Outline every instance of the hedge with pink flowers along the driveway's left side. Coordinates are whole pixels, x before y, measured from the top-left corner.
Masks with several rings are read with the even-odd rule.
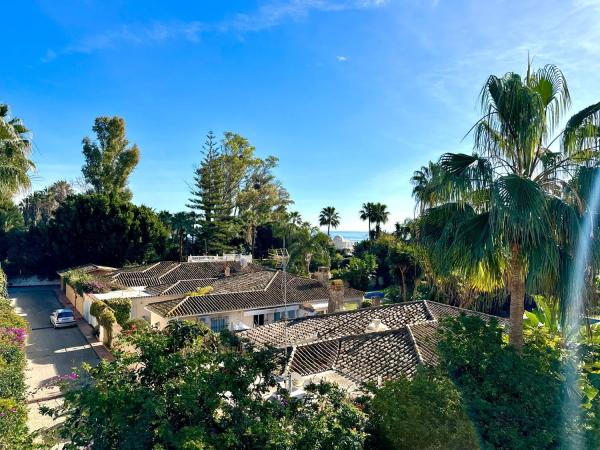
[[[0,270],[0,284],[5,280]],[[0,293],[3,286],[0,285]],[[0,296],[0,448],[29,448],[25,385],[27,322]]]

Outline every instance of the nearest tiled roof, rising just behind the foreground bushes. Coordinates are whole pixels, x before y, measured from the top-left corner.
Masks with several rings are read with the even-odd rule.
[[[483,313],[430,301],[398,303],[276,322],[239,332],[259,346],[290,349],[286,371],[302,376],[336,373],[357,385],[412,376],[419,364],[437,364],[439,320]],[[375,319],[385,331],[368,332]],[[507,327],[506,319],[496,318]],[[386,329],[387,328],[387,329]]]

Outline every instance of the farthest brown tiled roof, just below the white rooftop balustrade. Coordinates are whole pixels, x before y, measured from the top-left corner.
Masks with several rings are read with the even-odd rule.
[[[223,276],[226,266],[230,268],[232,275],[266,270],[264,267],[256,264],[247,264],[242,267],[239,261],[160,261],[153,264],[115,270],[107,274],[107,277],[127,287],[154,287],[159,285],[174,285],[182,280],[219,278]],[[200,287],[200,285],[197,287]],[[162,290],[165,289],[167,288],[164,287]]]

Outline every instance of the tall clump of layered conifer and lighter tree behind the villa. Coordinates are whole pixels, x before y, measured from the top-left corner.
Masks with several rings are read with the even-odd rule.
[[[200,219],[202,251],[223,253],[243,244],[253,252],[258,227],[278,219],[291,203],[272,173],[277,158],[258,158],[255,150],[239,134],[224,133],[218,145],[208,133],[188,205]]]

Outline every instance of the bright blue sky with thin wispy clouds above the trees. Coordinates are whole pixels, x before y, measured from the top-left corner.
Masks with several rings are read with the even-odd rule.
[[[412,172],[462,140],[487,76],[555,63],[600,100],[600,4],[463,0],[44,0],[3,5],[0,102],[33,130],[34,185],[81,177],[99,115],[126,119],[134,201],[184,208],[207,130],[280,158],[294,209],[413,214]],[[9,20],[6,20],[6,19]]]

